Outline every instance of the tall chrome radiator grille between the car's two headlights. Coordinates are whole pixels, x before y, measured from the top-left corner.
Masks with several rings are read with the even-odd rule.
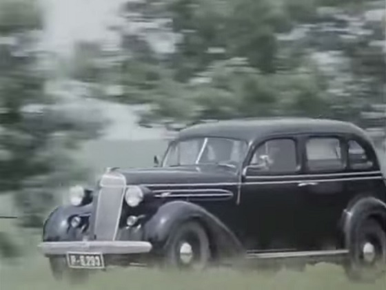
[[[102,176],[99,193],[94,197],[91,234],[95,240],[115,240],[125,186],[125,177],[119,172]]]

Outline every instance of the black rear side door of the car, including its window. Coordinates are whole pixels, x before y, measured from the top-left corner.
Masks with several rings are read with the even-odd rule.
[[[309,247],[336,245],[338,219],[349,200],[347,144],[338,134],[312,134],[302,138],[303,191],[301,227]]]

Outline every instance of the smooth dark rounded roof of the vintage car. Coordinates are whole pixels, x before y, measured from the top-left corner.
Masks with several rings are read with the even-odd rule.
[[[177,138],[199,136],[236,138],[247,142],[276,134],[354,134],[369,141],[365,131],[344,121],[326,118],[254,118],[201,123],[181,130]]]

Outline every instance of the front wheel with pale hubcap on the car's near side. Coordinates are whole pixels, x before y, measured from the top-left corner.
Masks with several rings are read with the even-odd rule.
[[[189,249],[191,256],[187,254]],[[200,271],[207,267],[210,256],[210,242],[203,227],[198,222],[185,222],[170,236],[163,265],[172,269]]]

